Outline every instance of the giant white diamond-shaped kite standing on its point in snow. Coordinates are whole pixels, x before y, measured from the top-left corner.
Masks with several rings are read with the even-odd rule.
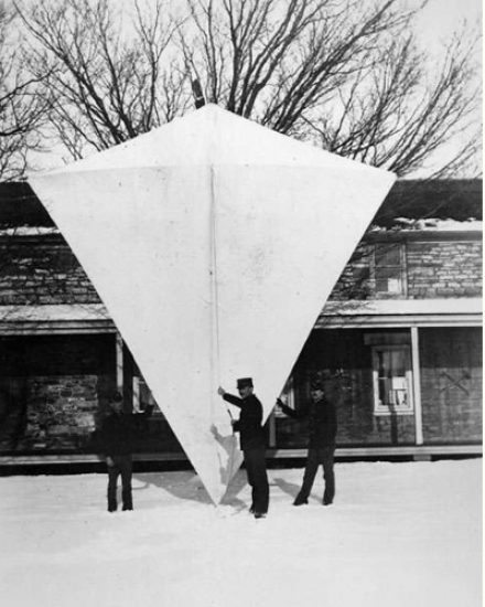
[[[218,503],[218,385],[252,377],[268,417],[395,175],[207,105],[29,181]]]

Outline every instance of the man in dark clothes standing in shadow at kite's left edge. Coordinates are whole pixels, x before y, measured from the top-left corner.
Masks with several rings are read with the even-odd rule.
[[[141,430],[141,424],[152,413],[153,406],[148,406],[142,414],[125,413],[123,400],[119,393],[110,398],[109,404],[111,413],[104,419],[99,432],[100,445],[108,466],[108,511],[115,512],[118,508],[116,493],[120,475],[122,509],[133,510],[131,454],[134,437]]]

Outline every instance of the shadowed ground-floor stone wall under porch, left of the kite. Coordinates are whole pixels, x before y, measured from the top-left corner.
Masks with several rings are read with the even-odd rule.
[[[0,451],[94,449],[115,385],[112,334],[0,339]]]

